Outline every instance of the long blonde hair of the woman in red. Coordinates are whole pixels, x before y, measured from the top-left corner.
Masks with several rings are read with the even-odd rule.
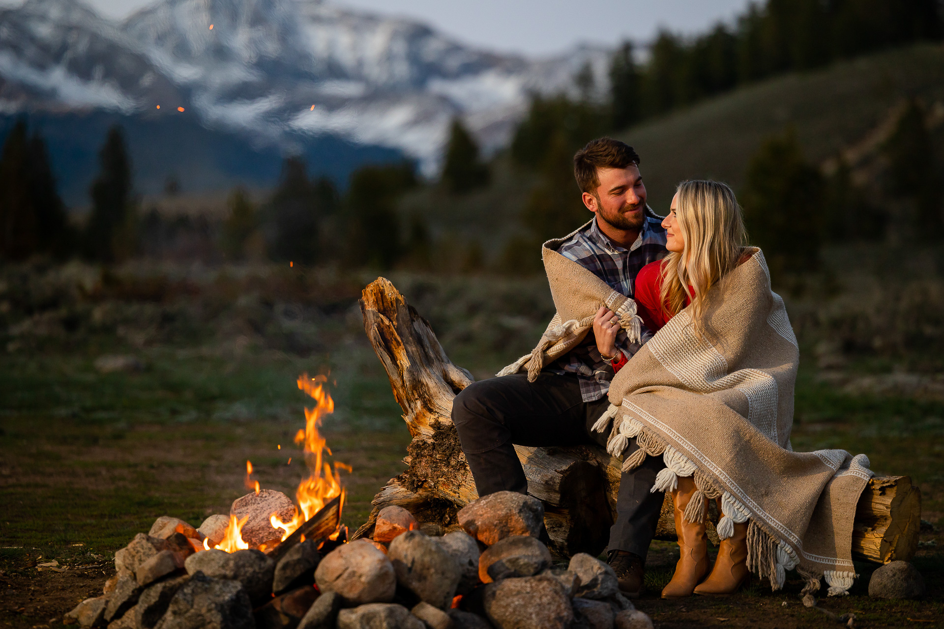
[[[684,250],[669,253],[662,261],[661,301],[666,314],[674,315],[689,298],[692,322],[698,331],[708,290],[737,266],[747,232],[741,207],[727,185],[719,181],[683,181],[676,192],[676,219]]]

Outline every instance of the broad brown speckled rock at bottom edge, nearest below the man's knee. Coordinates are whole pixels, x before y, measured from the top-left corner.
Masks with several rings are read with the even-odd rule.
[[[564,586],[554,578],[503,579],[484,590],[485,613],[498,629],[566,629],[574,620]]]

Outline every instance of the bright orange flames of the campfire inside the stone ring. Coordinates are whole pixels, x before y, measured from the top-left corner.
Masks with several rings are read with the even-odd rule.
[[[329,501],[337,496],[341,496],[341,507],[344,507],[345,489],[341,487],[340,470],[351,472],[351,467],[344,463],[334,461],[333,465],[324,460],[324,453],[331,455],[327,440],[318,432],[325,415],[334,412],[334,400],[331,399],[325,384],[328,382],[328,376],[317,375],[313,378],[308,373],[298,376],[298,389],[305,391],[316,402],[313,408],[305,407],[305,428],[298,429],[295,434],[295,444],[302,445],[304,448],[305,464],[309,469],[309,476],[299,483],[295,490],[295,500],[297,502],[297,512],[292,521],[283,522],[278,519],[275,513],[270,514],[269,522],[273,528],[283,531],[281,540],[292,535],[299,526],[308,521],[312,516],[327,505]],[[281,445],[278,446],[281,450]],[[289,463],[292,458],[289,458]],[[245,480],[246,488],[253,489],[257,494],[260,492],[259,481],[251,478],[253,472],[252,463],[245,462]],[[237,521],[232,516],[227,526],[226,537],[214,548],[227,553],[235,553],[238,550],[249,548],[244,542],[241,530],[248,517],[242,521]],[[342,527],[332,534],[329,539],[337,540],[342,532]],[[210,546],[204,541],[204,547],[209,550]]]

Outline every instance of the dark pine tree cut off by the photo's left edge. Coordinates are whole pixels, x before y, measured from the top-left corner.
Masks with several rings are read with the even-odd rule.
[[[37,249],[36,207],[30,194],[26,121],[13,125],[0,155],[0,257],[22,260]]]

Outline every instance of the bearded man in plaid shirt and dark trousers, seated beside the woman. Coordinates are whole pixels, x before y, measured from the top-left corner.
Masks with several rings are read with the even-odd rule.
[[[601,138],[577,152],[574,174],[583,205],[595,216],[556,250],[611,289],[632,297],[636,273],[667,253],[662,218],[646,205],[639,156],[621,141]],[[615,369],[651,336],[644,330],[641,341],[631,343],[614,319],[612,311],[600,306],[594,334],[587,334],[533,382],[526,374],[514,373],[475,382],[456,396],[452,420],[480,496],[502,490],[527,493],[514,444],[606,445],[607,435],[591,427],[609,406],[606,393]],[[632,439],[626,455],[637,447]],[[663,502],[662,493],[650,489],[664,467],[661,456],[648,456],[620,480],[607,551],[620,590],[630,596],[642,589],[649,542]]]

